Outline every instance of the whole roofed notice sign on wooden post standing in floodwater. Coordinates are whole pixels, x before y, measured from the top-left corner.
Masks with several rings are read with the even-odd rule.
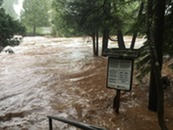
[[[132,88],[133,61],[138,57],[138,50],[112,48],[106,49],[103,55],[108,56],[106,86],[117,90],[113,109],[119,113],[121,90]]]

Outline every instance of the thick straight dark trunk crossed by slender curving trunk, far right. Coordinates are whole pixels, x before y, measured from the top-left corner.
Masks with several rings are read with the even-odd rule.
[[[162,57],[163,57],[163,52],[162,52],[162,48],[163,48],[163,28],[162,28],[162,26],[163,25],[162,24],[163,24],[164,17],[163,17],[163,19],[158,21],[158,17],[160,17],[158,15],[162,14],[160,12],[160,10],[162,10],[161,8],[160,9],[156,9],[155,10],[156,13],[154,15],[152,14],[152,12],[153,12],[152,11],[153,4],[154,3],[152,1],[150,2],[150,5],[148,4],[148,13],[149,13],[148,16],[150,17],[148,19],[150,19],[150,22],[151,22],[151,19],[154,18],[154,19],[152,19],[152,21],[155,21],[155,22],[153,22],[155,25],[153,25],[153,23],[150,23],[150,25],[148,25],[151,31],[154,28],[154,30],[153,30],[154,34],[149,34],[150,35],[149,37],[150,38],[151,37],[154,38],[154,39],[151,39],[151,41],[154,40],[154,44],[155,44],[154,46],[155,46],[155,49],[157,51],[157,57],[158,57],[158,62],[159,62],[159,66],[160,66],[160,71],[161,71],[161,69],[162,69],[162,62],[163,62],[162,61]],[[162,21],[162,23],[161,23],[161,21]],[[149,33],[153,33],[153,32],[149,32]],[[153,35],[153,36],[151,36],[151,35]],[[155,69],[155,68],[152,65],[151,66],[151,73],[150,73],[150,88],[149,88],[149,104],[148,104],[148,108],[149,108],[149,110],[157,111],[157,97],[158,97],[158,95],[157,95],[157,87],[156,87],[156,81],[155,81],[155,76],[156,75],[154,74],[153,69]]]

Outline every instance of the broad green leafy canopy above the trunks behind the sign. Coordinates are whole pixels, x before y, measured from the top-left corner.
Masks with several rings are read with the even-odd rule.
[[[112,33],[124,32],[135,22],[136,0],[54,0],[58,32],[81,32],[91,35],[94,30],[109,28]],[[71,31],[70,31],[71,30]],[[77,33],[78,34],[78,33]]]

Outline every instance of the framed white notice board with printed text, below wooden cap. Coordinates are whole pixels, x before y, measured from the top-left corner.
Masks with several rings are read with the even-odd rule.
[[[133,59],[108,57],[107,88],[131,91]]]

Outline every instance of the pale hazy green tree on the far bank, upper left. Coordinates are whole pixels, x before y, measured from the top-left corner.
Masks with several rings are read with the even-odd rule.
[[[33,34],[37,27],[49,26],[49,1],[47,0],[25,0],[24,12],[21,21],[27,28],[33,28]]]

